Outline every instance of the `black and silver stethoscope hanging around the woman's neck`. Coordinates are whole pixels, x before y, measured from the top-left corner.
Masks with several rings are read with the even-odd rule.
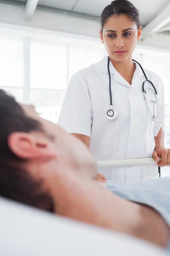
[[[135,61],[135,60],[133,60],[133,61]],[[110,69],[109,69],[109,62],[110,62],[110,58],[108,57],[108,76],[109,76],[109,93],[110,93],[110,106],[111,106],[111,108],[107,111],[106,116],[107,116],[108,119],[113,120],[113,119],[115,119],[115,118],[117,117],[117,111],[116,111],[115,109],[113,109],[113,105],[112,105],[111,73],[110,73]],[[154,122],[159,123],[159,121],[158,121],[158,116],[159,116],[159,106],[158,106],[158,102],[159,102],[159,101],[158,101],[157,90],[156,90],[154,84],[153,84],[150,80],[147,79],[147,76],[146,76],[146,74],[145,74],[145,72],[144,72],[144,70],[143,70],[141,64],[139,64],[138,61],[135,61],[135,62],[139,65],[139,67],[141,68],[141,70],[142,70],[142,72],[143,72],[143,74],[144,74],[144,76],[145,76],[145,81],[144,81],[143,84],[142,84],[142,92],[143,92],[143,94],[144,94],[144,100],[145,100],[145,102],[146,102],[147,109],[148,109],[148,111],[149,111],[149,113],[150,113],[150,117],[151,117],[151,119],[152,119]],[[153,88],[146,88],[146,90],[144,90],[144,83],[145,83],[145,82],[149,82],[149,83],[152,85]],[[151,113],[150,108],[149,108],[149,105],[148,105],[148,103],[147,103],[147,99],[146,99],[146,92],[147,92],[147,90],[151,90],[151,91],[153,92],[155,98],[156,98],[156,101],[153,101],[153,100],[152,100],[152,102],[153,102],[153,114]],[[157,114],[155,113],[155,104],[156,104],[156,107],[157,107]]]

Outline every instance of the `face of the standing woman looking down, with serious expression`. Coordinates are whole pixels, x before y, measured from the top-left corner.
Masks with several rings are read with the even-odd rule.
[[[126,15],[113,15],[106,21],[100,38],[110,58],[114,61],[125,61],[133,53],[136,42],[141,37],[141,26],[137,29],[136,23]]]

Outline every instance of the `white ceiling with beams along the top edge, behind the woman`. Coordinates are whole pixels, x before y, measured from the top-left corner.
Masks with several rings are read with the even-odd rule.
[[[44,9],[87,19],[99,19],[102,10],[111,0],[0,0],[24,5],[30,9]],[[170,0],[131,0],[139,10],[140,23],[146,38],[153,32],[170,33]],[[31,15],[34,15],[31,12]]]

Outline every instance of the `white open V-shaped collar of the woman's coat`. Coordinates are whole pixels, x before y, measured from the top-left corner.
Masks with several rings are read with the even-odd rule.
[[[138,85],[140,85],[145,80],[145,77],[141,68],[139,67],[139,64],[137,64],[135,61],[134,63],[136,64],[136,70],[134,72],[132,84],[136,82]],[[105,58],[103,58],[101,61],[98,62],[98,68],[101,72],[108,73],[108,56],[105,56]],[[109,63],[109,69],[110,69],[110,73],[114,74],[115,81],[121,84],[124,84],[128,87],[131,87],[131,85],[117,72],[117,70],[114,68],[113,64],[111,63],[111,61]]]

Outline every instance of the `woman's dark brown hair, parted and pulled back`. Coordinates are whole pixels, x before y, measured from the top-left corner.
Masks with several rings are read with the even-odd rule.
[[[128,19],[134,21],[136,23],[137,29],[140,27],[139,22],[139,11],[136,7],[127,0],[115,0],[112,1],[111,4],[105,7],[100,16],[100,26],[103,32],[103,27],[107,22],[108,18],[113,15],[121,15],[124,14]]]

